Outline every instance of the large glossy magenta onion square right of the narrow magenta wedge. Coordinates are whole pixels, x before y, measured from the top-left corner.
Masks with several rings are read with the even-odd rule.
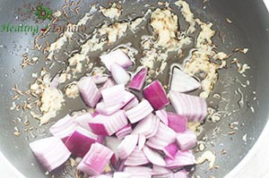
[[[169,105],[169,99],[160,81],[153,81],[143,89],[143,97],[146,98],[155,110]]]

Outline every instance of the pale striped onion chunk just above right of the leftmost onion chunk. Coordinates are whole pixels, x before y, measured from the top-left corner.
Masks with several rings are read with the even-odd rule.
[[[54,123],[49,128],[49,131],[55,137],[58,137],[65,142],[65,140],[67,140],[68,137],[74,132],[76,127],[77,123],[74,122],[74,118],[67,114],[64,118]]]

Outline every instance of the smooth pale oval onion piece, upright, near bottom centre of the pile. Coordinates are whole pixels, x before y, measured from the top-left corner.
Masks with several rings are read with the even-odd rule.
[[[134,151],[137,141],[137,134],[127,135],[117,147],[118,157],[120,157],[121,159],[125,159],[126,157],[128,157]]]

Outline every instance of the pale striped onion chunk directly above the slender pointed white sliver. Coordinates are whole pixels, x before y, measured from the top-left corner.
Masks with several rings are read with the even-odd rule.
[[[163,150],[163,148],[169,145],[169,143],[175,142],[175,140],[176,132],[164,123],[160,123],[157,133],[146,142],[146,145],[154,149]]]

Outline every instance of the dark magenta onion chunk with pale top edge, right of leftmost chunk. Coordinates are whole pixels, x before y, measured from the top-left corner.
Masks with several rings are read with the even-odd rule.
[[[74,156],[84,157],[91,148],[91,144],[96,142],[97,139],[97,135],[78,126],[65,141],[65,146]]]

